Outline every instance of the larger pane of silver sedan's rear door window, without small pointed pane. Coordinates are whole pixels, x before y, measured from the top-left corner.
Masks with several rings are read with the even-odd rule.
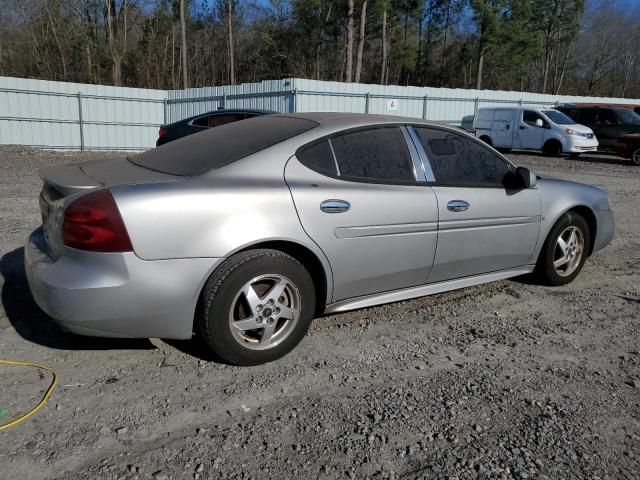
[[[398,127],[357,130],[331,139],[341,177],[415,182],[413,161]]]

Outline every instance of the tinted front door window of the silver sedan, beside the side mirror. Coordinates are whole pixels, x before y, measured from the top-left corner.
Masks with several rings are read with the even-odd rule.
[[[480,142],[435,128],[414,127],[438,185],[502,187],[511,165]]]

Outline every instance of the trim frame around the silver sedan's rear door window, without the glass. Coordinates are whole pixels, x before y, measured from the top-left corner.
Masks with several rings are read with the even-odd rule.
[[[427,185],[427,182],[422,179],[419,180],[418,177],[418,172],[416,171],[416,158],[417,158],[417,152],[412,148],[412,145],[409,144],[407,142],[407,138],[405,136],[404,130],[405,130],[406,124],[405,123],[381,123],[381,124],[373,124],[373,125],[364,125],[364,126],[360,126],[360,127],[352,127],[352,128],[347,128],[345,130],[340,130],[338,132],[333,132],[330,133],[328,135],[325,135],[323,137],[320,138],[316,138],[315,140],[309,142],[309,143],[305,143],[304,145],[298,147],[295,151],[295,156],[296,159],[302,164],[304,165],[306,168],[308,168],[309,170],[316,172],[318,175],[322,175],[328,178],[333,178],[335,180],[341,180],[344,182],[354,182],[354,183],[368,183],[371,185],[400,185],[400,186],[424,186]],[[338,160],[333,148],[333,143],[331,142],[331,139],[333,138],[337,138],[337,137],[341,137],[343,135],[348,135],[351,133],[355,133],[355,132],[359,132],[359,131],[366,131],[366,130],[379,130],[382,128],[397,128],[398,130],[400,130],[400,133],[402,134],[402,139],[405,145],[405,148],[407,149],[407,153],[409,154],[411,163],[413,168],[411,169],[412,171],[412,175],[413,175],[413,180],[384,180],[384,179],[375,179],[375,178],[364,178],[364,177],[351,177],[351,176],[347,176],[347,175],[341,175],[340,174],[340,167],[338,165]],[[336,171],[338,172],[338,175],[331,175],[329,173],[326,172],[319,172],[318,170],[311,168],[309,166],[307,166],[302,160],[301,160],[301,153],[306,150],[307,148],[310,148],[318,143],[321,143],[323,141],[326,141],[329,143],[329,148],[331,150],[331,155],[333,157],[333,161],[334,161],[334,165],[336,167]]]

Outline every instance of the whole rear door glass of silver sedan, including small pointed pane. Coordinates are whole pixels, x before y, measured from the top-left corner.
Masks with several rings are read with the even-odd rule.
[[[399,127],[355,130],[323,139],[297,154],[325,175],[373,183],[415,183],[411,154]]]

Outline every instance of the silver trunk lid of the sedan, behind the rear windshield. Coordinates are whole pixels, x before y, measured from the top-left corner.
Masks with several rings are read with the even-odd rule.
[[[64,209],[71,201],[71,196],[96,188],[175,181],[184,178],[143,168],[126,158],[91,160],[71,165],[45,167],[40,169],[39,174],[44,182],[38,199],[42,227],[49,254],[54,259],[60,257],[64,246],[62,222]]]

